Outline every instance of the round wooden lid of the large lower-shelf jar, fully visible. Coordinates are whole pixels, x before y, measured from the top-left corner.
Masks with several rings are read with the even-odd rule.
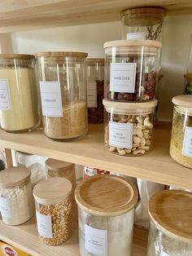
[[[90,214],[117,216],[132,210],[137,203],[133,183],[116,175],[96,175],[76,187],[76,203]]]

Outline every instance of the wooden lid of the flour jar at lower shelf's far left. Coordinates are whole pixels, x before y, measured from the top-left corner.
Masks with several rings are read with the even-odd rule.
[[[31,176],[31,170],[25,167],[11,167],[0,171],[0,187],[14,188],[24,185]]]

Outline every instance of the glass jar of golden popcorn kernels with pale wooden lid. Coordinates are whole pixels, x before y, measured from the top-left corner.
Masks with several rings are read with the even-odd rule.
[[[72,183],[55,177],[41,180],[33,189],[37,230],[46,245],[61,245],[72,234]]]

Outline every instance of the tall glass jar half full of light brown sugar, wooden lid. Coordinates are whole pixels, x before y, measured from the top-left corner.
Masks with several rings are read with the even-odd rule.
[[[46,136],[55,140],[80,138],[87,132],[87,53],[39,52],[36,56]]]

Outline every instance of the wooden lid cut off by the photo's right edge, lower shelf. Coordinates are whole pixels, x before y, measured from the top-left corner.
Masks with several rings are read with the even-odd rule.
[[[151,197],[149,214],[155,225],[168,236],[192,242],[192,194],[164,190]]]

